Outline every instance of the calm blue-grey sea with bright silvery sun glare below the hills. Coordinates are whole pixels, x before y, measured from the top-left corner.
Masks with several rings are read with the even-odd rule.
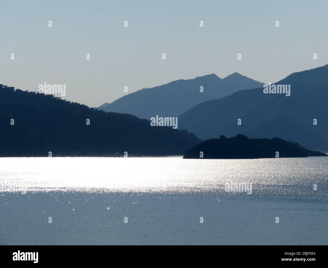
[[[328,157],[0,158],[0,191],[0,244],[328,244]]]

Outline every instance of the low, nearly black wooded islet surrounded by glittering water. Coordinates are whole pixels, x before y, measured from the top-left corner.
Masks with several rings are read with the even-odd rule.
[[[298,143],[285,141],[280,138],[249,139],[245,135],[219,139],[208,139],[195,145],[186,152],[183,158],[201,159],[254,159],[281,157],[327,156],[322,152],[313,152],[300,147]],[[277,154],[279,153],[279,155]]]

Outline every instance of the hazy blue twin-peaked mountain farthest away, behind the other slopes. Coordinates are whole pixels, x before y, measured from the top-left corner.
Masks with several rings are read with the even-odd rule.
[[[127,113],[150,119],[156,115],[177,117],[198,103],[214,98],[222,98],[241,89],[262,86],[263,83],[238,73],[224,79],[215,74],[189,80],[176,80],[153,88],[144,88],[130,93],[110,104],[103,104],[98,110]],[[203,86],[203,92],[200,92]]]

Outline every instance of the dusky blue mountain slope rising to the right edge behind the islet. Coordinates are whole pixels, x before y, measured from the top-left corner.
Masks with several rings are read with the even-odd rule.
[[[203,139],[238,133],[251,138],[280,137],[326,152],[328,64],[293,73],[275,84],[290,85],[290,96],[264,94],[263,87],[238,91],[191,108],[179,116],[178,128]],[[241,125],[237,125],[237,119],[241,119]]]

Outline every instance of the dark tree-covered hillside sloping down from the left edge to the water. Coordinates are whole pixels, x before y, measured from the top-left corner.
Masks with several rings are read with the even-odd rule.
[[[187,131],[4,85],[0,126],[0,156],[183,155],[199,143]]]

